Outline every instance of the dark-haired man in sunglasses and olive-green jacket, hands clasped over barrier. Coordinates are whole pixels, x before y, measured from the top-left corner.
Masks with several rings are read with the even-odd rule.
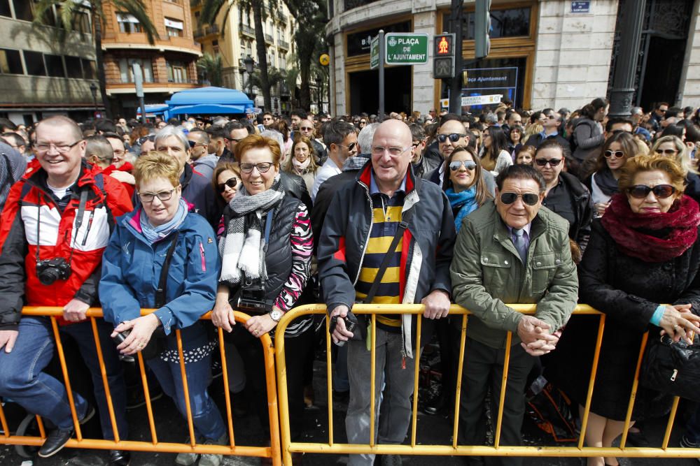
[[[521,444],[524,392],[533,356],[554,350],[557,330],[577,303],[568,221],[542,207],[546,188],[535,168],[508,167],[496,178],[493,203],[466,217],[457,235],[450,267],[453,298],[473,314],[465,340],[461,445],[486,441],[486,393],[490,387],[491,413],[496,418],[507,350],[510,363],[500,445]],[[510,303],[536,304],[535,314],[521,314]],[[486,458],[486,465],[491,464],[521,465],[522,458]]]

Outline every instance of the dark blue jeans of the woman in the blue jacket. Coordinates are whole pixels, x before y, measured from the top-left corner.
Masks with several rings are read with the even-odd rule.
[[[182,385],[182,373],[177,354],[175,333],[163,338],[168,361],[164,354],[146,363],[151,367],[163,391],[175,402],[178,411],[187,418],[187,406]],[[192,422],[197,437],[218,441],[226,433],[221,412],[207,392],[211,383],[211,351],[204,350],[209,344],[207,333],[200,323],[186,328],[182,332],[183,353],[185,354],[185,373],[190,394]],[[202,356],[204,354],[204,356]]]

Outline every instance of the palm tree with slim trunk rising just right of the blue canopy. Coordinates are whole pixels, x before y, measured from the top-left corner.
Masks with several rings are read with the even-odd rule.
[[[255,25],[255,52],[258,54],[258,66],[260,68],[260,90],[262,97],[265,100],[265,108],[272,108],[272,93],[269,82],[269,71],[267,70],[267,46],[265,45],[265,30],[262,29],[262,21],[267,20],[267,11],[265,3],[269,5],[270,13],[274,13],[277,8],[277,0],[235,0],[241,11],[248,14],[253,12],[253,24]],[[200,15],[200,24],[213,24],[216,21],[221,11],[223,15],[222,34],[228,22],[228,15],[231,12],[231,7],[234,1],[229,0],[204,0],[202,3],[202,14]]]

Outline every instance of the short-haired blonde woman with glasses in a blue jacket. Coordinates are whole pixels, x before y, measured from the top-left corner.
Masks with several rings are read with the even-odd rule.
[[[197,442],[225,444],[221,413],[207,393],[214,344],[199,321],[214,307],[221,262],[211,226],[188,212],[181,196],[181,170],[167,154],[151,152],[137,161],[134,177],[142,205],[117,220],[102,259],[99,296],[104,319],[116,326],[112,336],[125,337],[117,349],[144,351],[163,390],[186,416],[175,337],[181,330]],[[141,308],[157,310],[141,316]],[[180,453],[176,463],[196,460],[194,453]],[[216,455],[200,459],[205,466],[220,462]]]

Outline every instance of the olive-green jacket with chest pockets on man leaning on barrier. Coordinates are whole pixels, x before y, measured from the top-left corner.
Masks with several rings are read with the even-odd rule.
[[[450,267],[454,302],[470,310],[467,335],[504,348],[507,330],[518,344],[522,314],[504,303],[537,303],[535,316],[561,328],[576,307],[578,277],[571,259],[568,222],[547,207],[532,221],[527,266],[493,202],[465,217]]]

